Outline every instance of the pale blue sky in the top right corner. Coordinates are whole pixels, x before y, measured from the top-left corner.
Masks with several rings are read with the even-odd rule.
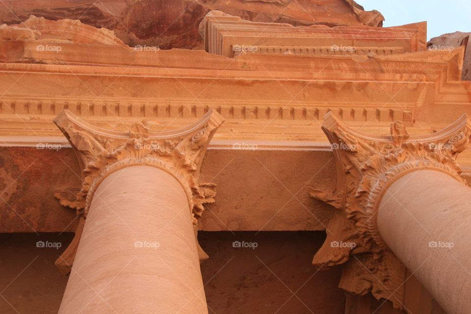
[[[454,31],[471,32],[471,0],[356,0],[383,14],[383,26],[427,21],[427,40]]]

